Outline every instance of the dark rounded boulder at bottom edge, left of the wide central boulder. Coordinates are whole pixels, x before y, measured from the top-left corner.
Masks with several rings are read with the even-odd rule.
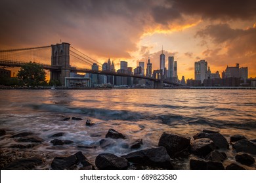
[[[95,165],[101,170],[123,170],[127,169],[129,162],[125,158],[114,154],[99,154],[95,159]]]

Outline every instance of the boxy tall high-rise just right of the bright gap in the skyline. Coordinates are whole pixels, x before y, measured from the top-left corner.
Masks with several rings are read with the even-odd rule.
[[[207,61],[204,59],[195,62],[195,80],[203,80],[207,79]]]

